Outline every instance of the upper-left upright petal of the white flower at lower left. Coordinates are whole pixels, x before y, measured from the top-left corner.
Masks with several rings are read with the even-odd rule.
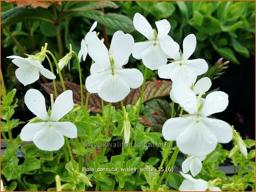
[[[48,120],[49,116],[46,112],[45,99],[43,94],[36,90],[30,89],[26,92],[24,101],[29,110],[42,120]]]

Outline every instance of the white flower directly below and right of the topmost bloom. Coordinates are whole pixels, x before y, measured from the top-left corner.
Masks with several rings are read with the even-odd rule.
[[[183,54],[179,52],[179,45],[170,37],[160,40],[162,50],[174,59],[174,62],[160,66],[158,75],[160,78],[172,81],[182,79],[184,82],[195,82],[196,77],[208,70],[208,64],[204,59],[188,60],[196,49],[196,36],[188,35],[183,40]]]

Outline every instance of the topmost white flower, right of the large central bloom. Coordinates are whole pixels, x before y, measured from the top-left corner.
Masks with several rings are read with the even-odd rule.
[[[160,47],[160,40],[165,38],[171,29],[169,21],[166,19],[156,21],[156,30],[153,30],[145,17],[136,13],[133,18],[134,28],[144,35],[148,41],[135,43],[132,56],[142,59],[144,65],[152,70],[159,69],[160,66],[167,64],[167,55]]]

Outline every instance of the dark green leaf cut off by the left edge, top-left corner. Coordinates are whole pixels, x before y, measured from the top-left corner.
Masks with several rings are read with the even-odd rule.
[[[22,21],[39,20],[53,23],[53,14],[48,9],[38,7],[14,7],[1,14],[1,25],[9,26]]]

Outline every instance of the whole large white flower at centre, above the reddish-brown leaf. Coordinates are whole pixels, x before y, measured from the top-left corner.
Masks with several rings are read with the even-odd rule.
[[[138,88],[143,82],[143,75],[138,69],[123,69],[134,47],[130,34],[122,31],[114,33],[108,51],[98,38],[90,40],[88,53],[95,61],[91,66],[91,76],[85,86],[89,92],[98,95],[107,102],[123,100],[130,88]]]

